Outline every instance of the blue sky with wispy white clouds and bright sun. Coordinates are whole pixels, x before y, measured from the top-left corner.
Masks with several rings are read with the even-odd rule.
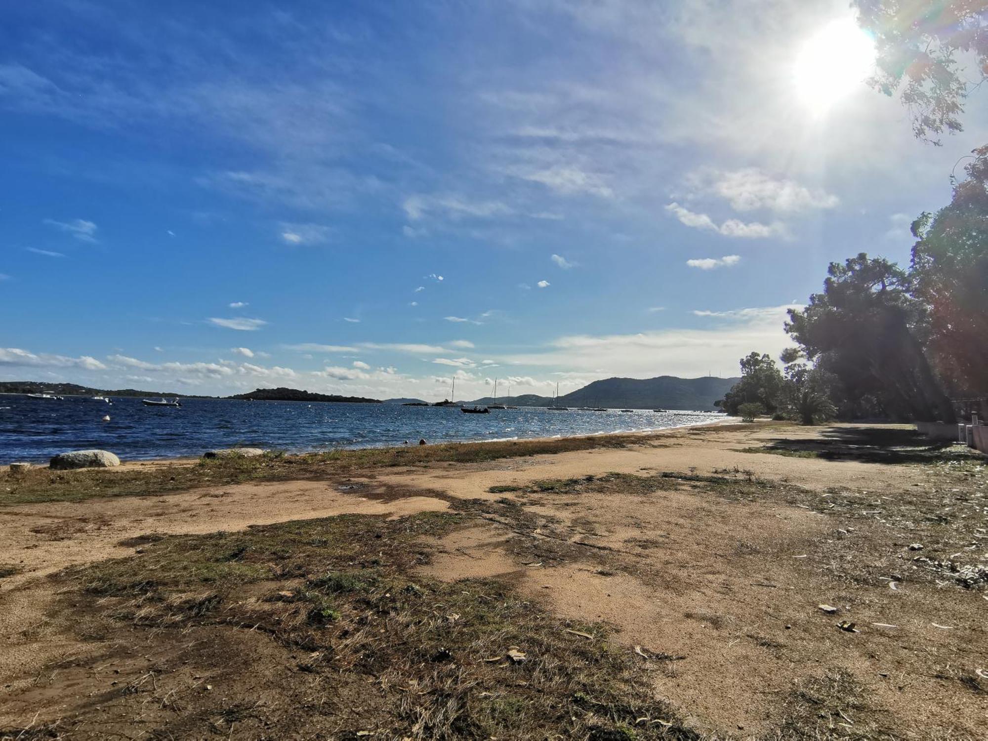
[[[853,68],[846,0],[0,18],[3,380],[437,400],[453,375],[457,398],[736,375],[831,261],[908,264],[988,135],[982,100],[914,139]]]

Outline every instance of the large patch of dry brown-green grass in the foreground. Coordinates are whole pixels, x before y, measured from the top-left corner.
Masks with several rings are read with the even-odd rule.
[[[79,585],[64,607],[81,632],[112,635],[122,653],[152,635],[159,647],[190,639],[215,647],[244,630],[267,636],[294,667],[280,700],[268,692],[264,707],[250,705],[256,669],[222,680],[227,709],[250,707],[237,721],[248,737],[696,737],[653,696],[648,662],[612,643],[604,625],[552,617],[496,581],[411,577],[429,558],[422,535],[465,522],[341,516],[166,537],[140,555],[64,574]],[[101,727],[122,729],[150,696],[159,731],[207,735],[218,698],[170,679],[205,663],[195,650],[156,658],[153,683],[144,673],[103,700]],[[307,698],[304,712],[292,706],[297,695]],[[345,712],[331,700],[339,697]],[[89,719],[83,707],[61,728],[74,735]]]

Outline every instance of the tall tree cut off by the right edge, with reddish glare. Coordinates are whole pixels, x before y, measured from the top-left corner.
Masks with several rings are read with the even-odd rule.
[[[988,392],[988,146],[974,150],[953,199],[913,222],[913,294],[929,309],[931,358],[950,389]]]

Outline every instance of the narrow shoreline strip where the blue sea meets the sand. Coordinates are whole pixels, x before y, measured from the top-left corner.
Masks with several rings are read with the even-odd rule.
[[[331,402],[326,402],[326,403],[331,403]],[[703,414],[712,414],[712,412],[703,412]],[[514,437],[514,438],[494,438],[494,439],[487,439],[487,440],[484,440],[484,439],[469,440],[469,439],[467,439],[467,440],[447,440],[447,441],[442,441],[442,442],[430,442],[430,441],[427,440],[426,441],[426,445],[425,446],[421,446],[421,448],[438,447],[438,446],[451,446],[451,445],[499,445],[499,444],[507,445],[507,444],[510,444],[510,443],[523,443],[523,442],[524,443],[551,443],[552,441],[574,440],[574,439],[578,439],[578,438],[597,438],[597,439],[604,440],[606,438],[621,437],[621,436],[649,437],[649,436],[653,436],[653,435],[662,435],[663,433],[667,433],[667,432],[675,432],[677,430],[698,429],[698,428],[705,428],[705,427],[715,427],[715,426],[718,426],[718,425],[725,425],[725,424],[741,424],[741,418],[740,417],[730,417],[730,416],[727,416],[727,415],[722,415],[722,416],[718,416],[717,419],[710,420],[710,421],[687,422],[687,423],[682,424],[682,425],[675,425],[675,426],[671,426],[671,427],[646,428],[646,429],[643,429],[643,430],[617,430],[617,431],[614,431],[614,432],[575,433],[573,435],[552,435],[552,436],[548,436],[548,437],[541,436],[541,437],[535,437],[535,438]],[[259,446],[244,445],[244,446],[238,446],[238,447],[240,447],[240,448],[257,448]],[[367,445],[367,446],[340,446],[340,447],[336,447],[336,448],[329,448],[329,449],[322,449],[322,450],[318,450],[318,449],[292,450],[292,451],[286,451],[285,454],[286,455],[312,455],[312,454],[334,453],[336,451],[340,451],[340,452],[354,452],[354,451],[387,452],[387,451],[408,450],[409,448],[413,448],[413,447],[420,447],[420,446],[419,446],[419,444],[417,442],[413,442],[413,441],[409,440],[409,443],[408,443],[407,446],[404,446],[404,445],[391,445],[391,444]],[[229,449],[229,450],[235,450],[235,448],[236,447],[234,447],[232,449]],[[77,451],[77,450],[105,450],[105,449],[70,448],[70,449],[67,449],[67,450],[63,451],[63,453],[68,453],[70,451]],[[216,450],[216,449],[208,449],[208,450]],[[266,452],[277,451],[277,450],[278,449],[265,449]],[[109,469],[106,469],[106,470],[121,470],[121,469],[123,469],[124,467],[127,467],[127,466],[134,467],[134,466],[138,466],[138,465],[148,465],[148,464],[195,462],[195,461],[199,460],[203,456],[203,454],[206,453],[206,451],[203,451],[203,453],[200,453],[199,455],[191,455],[191,454],[187,454],[187,455],[165,455],[165,456],[161,456],[161,457],[129,458],[129,459],[125,459],[124,460],[124,457],[122,455],[120,455],[120,453],[116,453],[115,451],[109,451],[109,452],[110,453],[115,453],[119,457],[121,457],[121,464],[120,464],[120,466],[114,466],[113,468],[109,468]],[[38,461],[36,461],[36,460],[31,459],[31,458],[25,457],[25,458],[20,458],[20,459],[17,459],[17,460],[11,460],[11,461],[6,462],[6,463],[0,463],[0,470],[9,470],[11,463],[18,463],[18,462],[28,462],[28,463],[31,463],[32,466],[35,467],[35,468],[45,468],[45,467],[47,467],[47,461],[44,460],[43,458],[41,458]]]

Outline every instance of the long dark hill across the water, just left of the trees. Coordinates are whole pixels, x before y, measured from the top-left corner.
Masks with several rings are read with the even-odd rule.
[[[740,378],[605,378],[559,397],[563,406],[712,411]]]

